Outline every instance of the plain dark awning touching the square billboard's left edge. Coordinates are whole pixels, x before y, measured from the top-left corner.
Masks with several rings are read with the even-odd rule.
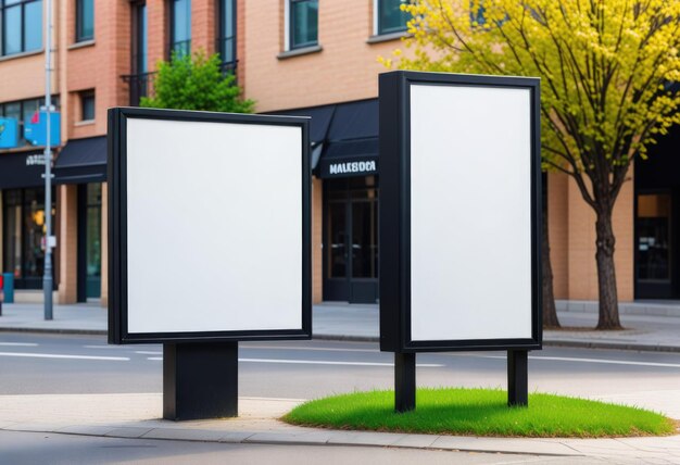
[[[66,142],[54,163],[54,181],[60,184],[106,180],[106,137]]]

